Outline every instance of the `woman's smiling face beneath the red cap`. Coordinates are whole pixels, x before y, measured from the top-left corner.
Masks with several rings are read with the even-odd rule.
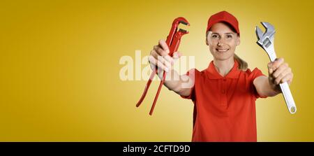
[[[207,32],[207,45],[216,60],[233,59],[240,38],[230,26],[223,22],[214,24]]]

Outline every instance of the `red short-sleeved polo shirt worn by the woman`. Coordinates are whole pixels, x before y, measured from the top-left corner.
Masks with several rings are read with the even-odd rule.
[[[204,71],[195,74],[194,87],[186,99],[194,105],[192,141],[257,141],[255,101],[260,96],[253,80],[262,71],[240,71],[238,62],[225,77],[211,61]]]

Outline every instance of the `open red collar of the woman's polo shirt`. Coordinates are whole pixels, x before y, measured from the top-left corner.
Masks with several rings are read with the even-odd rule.
[[[234,66],[232,69],[227,73],[225,77],[221,76],[218,71],[216,71],[214,61],[211,61],[209,66],[207,67],[207,76],[209,79],[222,79],[222,78],[239,78],[239,74],[241,71],[238,69],[238,62],[234,60]]]

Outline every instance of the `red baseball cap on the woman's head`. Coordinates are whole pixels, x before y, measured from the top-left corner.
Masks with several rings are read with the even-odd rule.
[[[214,15],[211,15],[211,17],[209,17],[206,31],[209,31],[209,29],[211,29],[211,26],[213,26],[214,24],[216,24],[218,22],[229,23],[237,31],[237,34],[240,35],[239,22],[238,22],[237,18],[225,10],[221,11],[219,13],[216,13]]]

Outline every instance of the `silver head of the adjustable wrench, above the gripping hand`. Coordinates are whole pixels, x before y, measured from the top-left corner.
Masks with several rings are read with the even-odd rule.
[[[273,62],[276,59],[276,53],[274,49],[275,29],[274,26],[269,24],[268,22],[261,23],[266,31],[265,33],[263,33],[263,31],[259,27],[255,27],[255,33],[258,39],[256,43],[267,52],[269,58],[271,59],[271,62]]]

